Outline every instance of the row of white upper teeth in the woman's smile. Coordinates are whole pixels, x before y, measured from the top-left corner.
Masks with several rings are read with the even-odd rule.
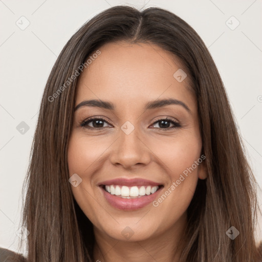
[[[115,185],[106,185],[105,190],[108,193],[119,195],[123,198],[129,197],[140,197],[143,195],[154,194],[158,190],[159,186],[137,186],[127,187],[127,186],[115,186]]]

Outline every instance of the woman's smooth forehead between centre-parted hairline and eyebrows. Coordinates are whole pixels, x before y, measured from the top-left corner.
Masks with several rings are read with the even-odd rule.
[[[76,104],[101,99],[123,106],[169,97],[194,102],[188,74],[182,82],[173,76],[186,70],[170,52],[151,43],[123,41],[106,43],[99,51],[98,56],[91,54],[91,63],[80,75]]]

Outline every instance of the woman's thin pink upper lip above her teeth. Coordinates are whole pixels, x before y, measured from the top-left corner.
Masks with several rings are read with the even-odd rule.
[[[153,182],[147,179],[134,178],[134,179],[126,179],[126,178],[117,178],[111,180],[105,180],[98,184],[102,185],[122,185],[122,186],[159,186],[161,183]]]

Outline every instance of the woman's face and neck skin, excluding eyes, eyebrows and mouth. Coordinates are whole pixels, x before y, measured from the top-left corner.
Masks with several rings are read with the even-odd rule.
[[[201,156],[197,100],[189,88],[189,77],[178,82],[173,74],[179,59],[156,45],[126,42],[107,43],[101,54],[80,75],[76,103],[101,99],[114,103],[115,110],[82,106],[75,111],[68,149],[70,176],[82,182],[72,186],[74,198],[94,225],[94,258],[101,261],[179,261],[172,250],[183,237],[187,215],[198,179],[206,179],[205,161],[159,204],[134,211],[118,210],[108,204],[98,183],[115,178],[143,178],[163,184],[164,193],[183,171]],[[188,74],[187,74],[188,75]],[[174,98],[181,105],[144,111],[148,101]],[[103,117],[103,129],[80,126],[90,117]],[[182,127],[167,128],[157,120],[165,117]],[[121,126],[129,121],[129,135]],[[152,128],[154,127],[154,128]],[[167,130],[169,128],[169,130]],[[161,193],[162,194],[162,193]],[[126,239],[126,227],[134,234]]]

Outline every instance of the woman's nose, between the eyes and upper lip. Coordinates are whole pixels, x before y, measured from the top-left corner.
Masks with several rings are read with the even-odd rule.
[[[147,165],[150,162],[150,149],[138,133],[138,128],[129,135],[119,130],[119,138],[112,145],[110,153],[110,161],[113,165],[130,169],[135,165]]]

